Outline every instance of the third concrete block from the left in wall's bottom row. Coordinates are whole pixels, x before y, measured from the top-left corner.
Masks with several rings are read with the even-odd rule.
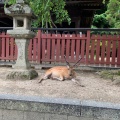
[[[67,115],[45,114],[45,120],[67,120]]]

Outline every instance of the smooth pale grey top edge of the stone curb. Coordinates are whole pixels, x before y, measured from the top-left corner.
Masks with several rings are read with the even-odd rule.
[[[92,100],[78,100],[78,99],[65,99],[65,98],[50,98],[38,96],[22,96],[14,94],[0,94],[0,100],[13,100],[37,103],[54,103],[64,105],[79,105],[88,107],[110,108],[120,110],[120,104],[110,102],[97,102]]]

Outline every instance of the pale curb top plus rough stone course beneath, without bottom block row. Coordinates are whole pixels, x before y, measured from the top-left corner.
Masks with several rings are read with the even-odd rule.
[[[0,109],[120,120],[120,104],[89,100],[0,94]]]

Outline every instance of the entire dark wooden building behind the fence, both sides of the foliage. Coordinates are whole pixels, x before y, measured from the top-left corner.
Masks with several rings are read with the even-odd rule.
[[[12,27],[12,18],[4,14],[4,1],[0,0],[0,27]],[[62,26],[72,28],[88,28],[91,26],[95,11],[104,7],[103,0],[66,0],[66,9],[72,23],[63,22]]]

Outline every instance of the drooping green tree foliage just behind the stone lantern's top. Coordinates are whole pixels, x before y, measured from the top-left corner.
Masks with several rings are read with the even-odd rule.
[[[63,21],[71,23],[71,19],[65,10],[65,0],[26,0],[35,15],[32,25],[34,27],[56,27],[55,23],[61,24]],[[16,0],[9,0],[9,4],[14,4]]]

